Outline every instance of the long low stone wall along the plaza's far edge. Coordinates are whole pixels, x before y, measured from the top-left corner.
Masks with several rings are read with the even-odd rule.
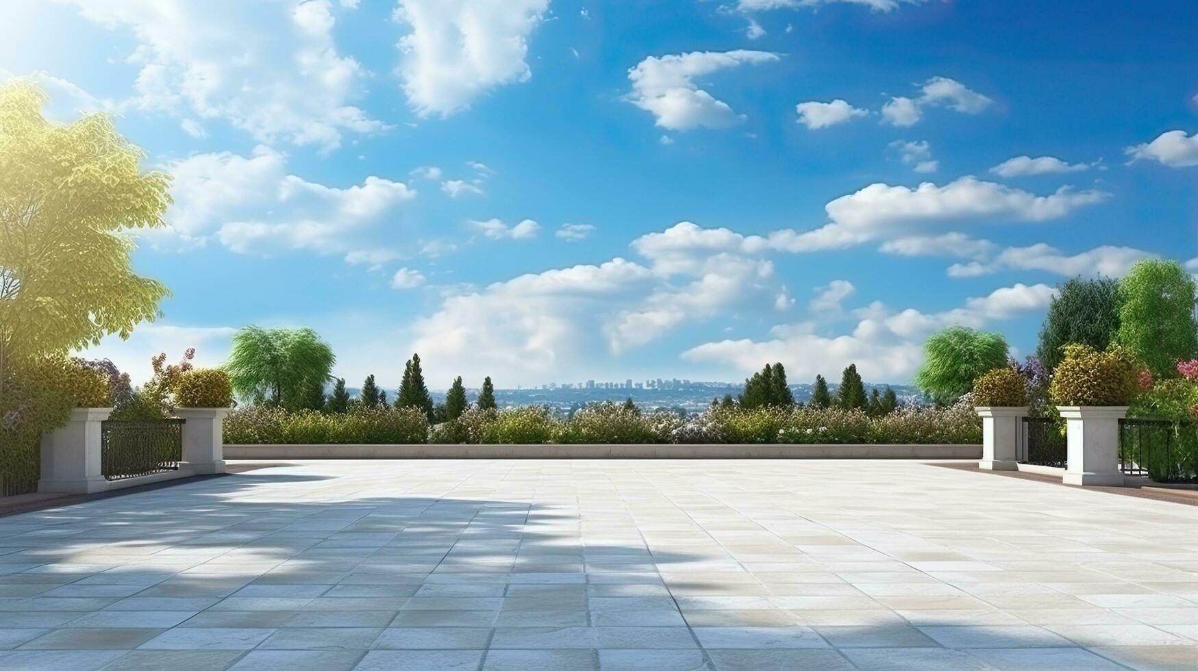
[[[980,445],[226,445],[225,459],[981,459]]]

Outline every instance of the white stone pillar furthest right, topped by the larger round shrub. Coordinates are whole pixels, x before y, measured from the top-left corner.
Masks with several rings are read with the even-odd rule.
[[[1065,484],[1123,485],[1119,471],[1119,421],[1125,405],[1061,405],[1057,407],[1069,430]]]

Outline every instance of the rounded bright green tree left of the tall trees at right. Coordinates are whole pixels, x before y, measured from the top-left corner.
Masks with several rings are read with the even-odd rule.
[[[924,343],[914,383],[936,403],[950,404],[969,392],[979,375],[1006,365],[1006,351],[998,333],[950,326]]]

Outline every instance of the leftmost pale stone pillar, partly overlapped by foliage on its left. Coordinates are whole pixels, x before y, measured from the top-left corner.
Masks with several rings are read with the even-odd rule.
[[[65,427],[42,434],[38,492],[93,494],[108,490],[101,471],[101,423],[111,407],[77,407]]]

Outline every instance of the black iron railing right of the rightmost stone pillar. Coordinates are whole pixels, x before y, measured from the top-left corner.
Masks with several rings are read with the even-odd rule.
[[[1120,419],[1119,470],[1161,483],[1198,483],[1198,424]]]

